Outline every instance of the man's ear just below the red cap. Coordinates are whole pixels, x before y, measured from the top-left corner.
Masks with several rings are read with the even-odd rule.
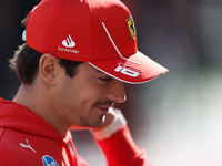
[[[46,53],[39,60],[39,73],[44,82],[51,86],[56,85],[60,69],[59,60],[52,54]]]

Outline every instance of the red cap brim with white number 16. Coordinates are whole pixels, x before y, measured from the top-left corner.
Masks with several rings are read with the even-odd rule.
[[[130,56],[88,63],[101,72],[130,84],[149,82],[169,72],[168,69],[154,62],[140,51]]]

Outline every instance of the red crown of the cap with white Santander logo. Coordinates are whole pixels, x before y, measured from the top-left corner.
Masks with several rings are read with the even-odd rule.
[[[27,44],[72,61],[120,58],[102,27],[104,22],[122,55],[131,55],[137,52],[137,40],[125,21],[130,18],[129,9],[117,0],[42,0],[29,13]]]

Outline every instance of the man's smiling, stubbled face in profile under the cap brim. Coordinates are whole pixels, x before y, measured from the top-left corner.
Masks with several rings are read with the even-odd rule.
[[[99,127],[108,108],[125,101],[122,82],[88,63],[78,66],[73,79],[63,74],[57,94],[57,108],[62,123]]]

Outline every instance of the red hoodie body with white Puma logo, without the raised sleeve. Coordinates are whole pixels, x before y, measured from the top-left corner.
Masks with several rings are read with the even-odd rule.
[[[73,149],[68,146],[68,143],[73,145],[71,141],[70,132],[62,138],[49,123],[26,106],[0,100],[1,166],[44,166],[43,160],[59,166],[89,166],[73,151],[74,146]]]

